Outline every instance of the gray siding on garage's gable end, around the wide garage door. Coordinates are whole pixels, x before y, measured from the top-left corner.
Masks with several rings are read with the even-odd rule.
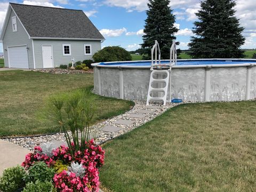
[[[29,39],[29,36],[23,26],[21,25],[19,19],[17,18],[17,31],[12,31],[12,17],[15,16],[13,10],[11,11],[11,15],[9,17],[9,21],[7,23],[7,27],[5,30],[4,38],[3,38],[3,48],[4,48],[4,65],[5,67],[9,67],[8,62],[8,46],[18,46],[18,45],[27,45],[29,47],[28,50],[28,64],[29,68],[34,68],[34,59],[33,59],[33,45],[32,40]]]

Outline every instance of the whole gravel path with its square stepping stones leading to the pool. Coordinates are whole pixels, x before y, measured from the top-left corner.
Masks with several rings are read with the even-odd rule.
[[[166,103],[166,106],[146,106],[145,101],[134,102],[135,106],[130,111],[92,126],[93,131],[90,136],[91,138],[95,138],[95,143],[99,145],[119,135],[127,133],[163,114],[167,109],[181,104],[168,102]],[[40,137],[6,138],[4,140],[29,150],[33,150],[35,146],[41,145],[41,143],[44,142],[53,142],[56,144],[58,142],[66,142],[64,133],[43,135]]]

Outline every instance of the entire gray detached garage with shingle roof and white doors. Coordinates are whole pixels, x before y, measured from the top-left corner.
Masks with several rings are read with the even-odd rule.
[[[15,3],[9,4],[0,36],[5,67],[29,69],[92,59],[103,40],[82,10]]]

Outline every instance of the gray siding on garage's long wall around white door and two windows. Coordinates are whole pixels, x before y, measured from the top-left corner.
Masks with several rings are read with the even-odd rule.
[[[64,55],[62,51],[62,44],[70,44],[71,55]],[[101,49],[100,41],[63,41],[63,40],[42,40],[34,39],[34,52],[36,68],[43,68],[42,45],[52,45],[53,63],[54,67],[67,65],[74,57],[76,61],[83,61],[85,59],[92,59],[92,55],[84,54],[84,44],[91,44],[92,55]]]

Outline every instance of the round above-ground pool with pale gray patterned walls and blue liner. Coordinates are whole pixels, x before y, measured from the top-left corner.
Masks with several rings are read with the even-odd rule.
[[[162,60],[161,64],[169,62]],[[151,61],[94,63],[94,91],[107,97],[145,100],[150,65]],[[167,98],[194,102],[256,98],[256,59],[178,60],[171,70],[171,98]]]

